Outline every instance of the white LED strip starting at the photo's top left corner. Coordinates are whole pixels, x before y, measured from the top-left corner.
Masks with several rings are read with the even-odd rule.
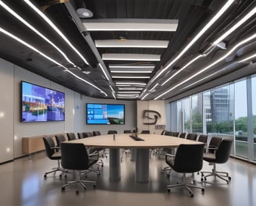
[[[61,53],[61,55],[66,59],[67,62],[69,62],[70,64],[72,64],[73,66],[76,66],[73,62],[71,62],[69,60],[69,58],[66,56],[66,54],[64,52],[62,52],[62,50],[60,48],[58,48],[52,41],[50,41],[47,37],[45,37],[43,34],[41,34],[38,30],[36,30],[30,23],[28,23],[26,20],[24,20],[20,15],[18,15],[16,12],[14,12],[12,9],[9,8],[8,5],[5,5],[4,2],[0,1],[0,5],[2,5],[2,7],[8,11],[9,13],[12,14],[12,16],[15,16],[16,19],[20,20],[20,22],[22,22],[23,24],[25,24],[27,27],[30,28],[30,30],[33,30],[34,33],[36,33],[37,35],[39,35],[40,37],[42,37],[45,41],[47,41],[49,44],[51,44],[59,53]],[[76,66],[77,67],[77,66]]]

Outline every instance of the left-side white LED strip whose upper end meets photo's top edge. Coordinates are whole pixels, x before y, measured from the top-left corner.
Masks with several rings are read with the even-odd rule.
[[[73,48],[73,51],[75,51],[76,54],[79,55],[80,58],[83,59],[83,61],[84,61],[87,65],[89,65],[89,63],[87,62],[87,60],[84,59],[84,56],[81,55],[81,53],[77,51],[77,49],[73,46],[73,44],[70,43],[70,41],[65,37],[65,35],[62,34],[62,32],[55,26],[54,23],[52,23],[51,20],[48,19],[47,16],[44,15],[43,12],[41,12],[39,9],[37,9],[37,7],[34,6],[30,1],[28,1],[28,0],[23,0],[23,1],[26,2],[27,5],[29,5],[35,12],[37,12],[37,14],[38,14],[39,16],[41,16],[41,18],[42,18],[44,21],[46,21],[46,22],[57,32],[57,34],[59,34],[59,36],[62,37],[62,39],[63,39],[64,41],[66,41],[67,44],[69,44],[69,47]]]

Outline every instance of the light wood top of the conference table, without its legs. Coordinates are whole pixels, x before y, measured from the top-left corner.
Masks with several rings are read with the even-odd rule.
[[[160,134],[138,134],[137,137],[143,141],[133,140],[131,133],[116,134],[116,140],[113,140],[113,134],[87,137],[84,139],[72,140],[73,143],[83,143],[87,147],[106,147],[106,148],[162,148],[178,147],[180,144],[203,144],[194,140],[187,140],[180,137],[171,137]]]

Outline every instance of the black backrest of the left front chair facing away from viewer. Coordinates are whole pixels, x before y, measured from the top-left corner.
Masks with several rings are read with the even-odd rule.
[[[61,143],[62,167],[64,169],[89,169],[87,149],[80,143]]]

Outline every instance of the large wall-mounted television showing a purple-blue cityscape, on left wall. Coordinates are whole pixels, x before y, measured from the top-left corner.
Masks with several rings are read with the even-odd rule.
[[[34,83],[21,82],[21,122],[65,120],[65,94]]]

